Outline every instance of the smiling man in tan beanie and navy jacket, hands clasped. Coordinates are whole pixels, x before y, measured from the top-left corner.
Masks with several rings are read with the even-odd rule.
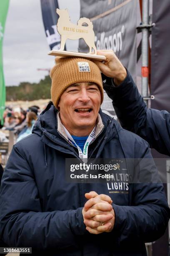
[[[151,158],[149,145],[100,110],[102,77],[95,63],[55,61],[53,104],[32,135],[14,145],[2,177],[0,236],[9,246],[32,247],[32,255],[144,256],[145,242],[162,236],[169,220],[162,184],[125,186],[123,175],[118,183],[67,183],[65,159],[117,159],[120,172],[118,159]],[[119,83],[126,70],[120,61],[114,65],[109,75]],[[155,174],[153,161],[147,163],[141,172]],[[134,166],[131,172],[136,175]]]

